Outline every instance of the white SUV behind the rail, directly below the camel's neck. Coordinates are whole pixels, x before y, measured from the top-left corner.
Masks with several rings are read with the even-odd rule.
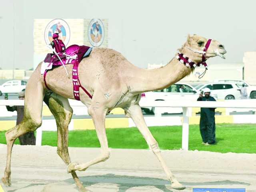
[[[165,100],[197,100],[199,93],[189,84],[176,83],[168,88],[145,92],[141,94],[140,106],[148,105],[152,101],[165,101]],[[148,114],[154,113],[154,107],[142,108],[142,111]],[[181,113],[182,108],[161,108],[162,113]]]

